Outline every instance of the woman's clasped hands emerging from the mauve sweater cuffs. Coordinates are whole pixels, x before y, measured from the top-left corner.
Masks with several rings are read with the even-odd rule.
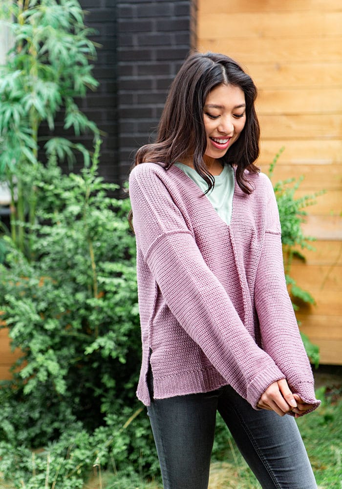
[[[312,409],[312,404],[304,402],[298,394],[292,394],[286,379],[282,378],[268,386],[257,407],[275,411],[279,416],[292,412],[298,418],[300,414]]]

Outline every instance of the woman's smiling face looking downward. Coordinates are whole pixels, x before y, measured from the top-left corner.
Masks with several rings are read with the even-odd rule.
[[[207,135],[205,160],[222,158],[235,143],[246,122],[245,94],[235,85],[219,85],[208,95],[204,109]]]

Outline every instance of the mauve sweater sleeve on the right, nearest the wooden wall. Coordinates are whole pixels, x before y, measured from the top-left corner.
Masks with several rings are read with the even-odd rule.
[[[255,287],[263,349],[285,375],[292,392],[313,404],[313,411],[320,401],[315,398],[311,366],[286,287],[278,207],[272,186],[267,209],[268,224]]]

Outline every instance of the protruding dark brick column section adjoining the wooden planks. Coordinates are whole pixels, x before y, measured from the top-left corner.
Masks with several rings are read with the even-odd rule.
[[[192,0],[117,1],[119,174],[153,140],[171,81],[195,46]]]

